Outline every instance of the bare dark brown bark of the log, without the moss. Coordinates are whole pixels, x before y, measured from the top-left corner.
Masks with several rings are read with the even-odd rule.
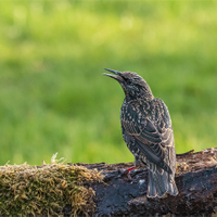
[[[104,175],[104,183],[90,186],[95,191],[93,216],[216,216],[217,148],[177,154],[179,194],[164,199],[146,197],[146,168],[130,171],[131,180],[122,173],[133,163],[77,165]]]

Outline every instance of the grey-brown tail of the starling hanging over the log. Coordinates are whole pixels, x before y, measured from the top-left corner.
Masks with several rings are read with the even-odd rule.
[[[152,169],[149,169],[148,196],[162,197],[165,193],[176,196],[178,194],[178,189],[173,174],[169,175],[156,164],[152,164]]]

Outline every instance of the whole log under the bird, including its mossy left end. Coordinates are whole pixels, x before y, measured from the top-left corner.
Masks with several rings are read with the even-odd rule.
[[[146,197],[133,163],[0,167],[0,216],[217,216],[217,148],[177,155],[177,196]]]

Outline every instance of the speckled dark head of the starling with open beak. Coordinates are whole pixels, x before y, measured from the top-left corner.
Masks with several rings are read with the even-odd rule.
[[[105,68],[105,71],[113,73],[113,75],[106,73],[103,73],[103,75],[106,75],[117,80],[123,87],[126,98],[144,98],[146,100],[152,100],[154,98],[146,81],[137,73],[118,72],[108,68]]]

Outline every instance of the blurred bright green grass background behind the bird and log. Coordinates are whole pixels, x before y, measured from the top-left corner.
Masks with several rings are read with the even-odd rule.
[[[217,3],[1,1],[0,165],[119,163],[120,86],[141,75],[167,104],[176,150],[216,146]]]

